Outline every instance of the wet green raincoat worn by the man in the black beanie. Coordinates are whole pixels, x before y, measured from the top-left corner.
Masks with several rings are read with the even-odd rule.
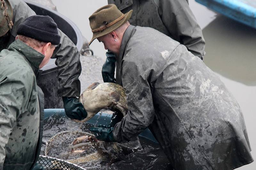
[[[43,58],[20,40],[0,53],[0,170],[29,170],[39,157],[44,95],[35,74]]]

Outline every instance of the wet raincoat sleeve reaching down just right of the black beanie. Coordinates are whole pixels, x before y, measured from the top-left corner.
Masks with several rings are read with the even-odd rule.
[[[60,44],[56,46],[52,58],[56,58],[55,64],[58,67],[58,95],[65,97],[80,96],[80,81],[82,67],[80,54],[76,45],[59,30],[61,36]]]

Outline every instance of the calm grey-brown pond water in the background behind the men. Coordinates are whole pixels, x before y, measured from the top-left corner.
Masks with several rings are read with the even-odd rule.
[[[92,37],[89,16],[107,4],[107,0],[52,1],[57,6],[57,10],[71,19],[88,40]],[[254,131],[256,128],[256,30],[224,16],[216,15],[215,12],[194,0],[190,0],[189,4],[199,25],[203,28],[206,40],[204,62],[220,76],[238,101],[244,113],[252,155],[256,159],[256,133]],[[105,59],[106,50],[97,40],[92,42],[90,48],[93,49],[95,55]],[[102,64],[99,63],[98,68]],[[83,79],[83,75],[80,77]],[[143,164],[136,168],[141,167]],[[256,169],[256,161],[238,169]]]

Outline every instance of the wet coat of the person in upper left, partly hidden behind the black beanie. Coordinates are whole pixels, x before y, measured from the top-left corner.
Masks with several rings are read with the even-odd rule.
[[[0,39],[0,50],[7,48],[17,36],[18,26],[28,17],[36,15],[29,6],[21,0],[9,0],[13,10],[13,27],[8,35]],[[80,81],[82,67],[80,54],[76,45],[58,29],[61,36],[60,44],[56,46],[52,58],[56,58],[55,64],[58,66],[58,96],[79,97]]]

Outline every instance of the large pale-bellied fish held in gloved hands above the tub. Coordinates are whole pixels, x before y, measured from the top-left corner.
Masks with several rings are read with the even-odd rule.
[[[100,110],[108,108],[117,109],[125,116],[128,111],[126,100],[127,97],[122,86],[116,83],[95,82],[79,97],[79,101],[87,111],[87,117],[83,120],[73,120],[75,122],[88,121]]]

